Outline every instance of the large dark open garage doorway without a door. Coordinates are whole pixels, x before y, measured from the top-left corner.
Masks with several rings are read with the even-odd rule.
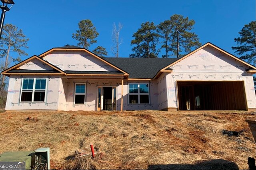
[[[178,81],[179,110],[246,110],[244,82]]]

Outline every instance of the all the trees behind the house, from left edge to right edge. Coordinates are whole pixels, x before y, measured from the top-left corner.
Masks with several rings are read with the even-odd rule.
[[[194,20],[189,20],[181,15],[173,15],[169,20],[165,20],[158,25],[153,22],[144,22],[140,25],[137,32],[132,34],[134,38],[131,41],[132,54],[129,57],[146,57],[155,58],[161,50],[164,51],[163,58],[170,56],[182,57],[184,53],[189,53],[192,48],[201,46],[198,36],[192,32]],[[89,48],[91,44],[97,42],[95,40],[99,33],[90,20],[82,20],[78,23],[78,30],[72,34],[72,38],[78,41],[78,46],[82,48]],[[116,26],[114,24],[112,31],[111,48],[112,53],[119,56],[119,46],[122,44],[120,38],[120,31],[122,24]],[[237,46],[232,46],[232,50],[243,60],[246,60],[253,65],[256,64],[256,21],[244,25],[240,30],[239,37],[234,38]],[[22,56],[28,56],[25,49],[28,48],[28,38],[24,35],[22,30],[12,24],[6,24],[3,27],[2,38],[0,42],[0,71],[9,68],[11,63],[21,61]],[[160,49],[157,46],[160,45]],[[106,48],[97,46],[92,50],[98,56],[107,56]],[[0,75],[0,96],[7,87],[6,76]],[[256,81],[256,79],[255,79]],[[4,93],[6,94],[6,93]],[[1,101],[0,101],[1,103]]]

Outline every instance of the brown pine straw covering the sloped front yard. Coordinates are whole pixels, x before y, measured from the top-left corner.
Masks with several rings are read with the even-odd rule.
[[[56,169],[247,169],[248,156],[256,153],[247,118],[256,116],[244,111],[4,112],[0,153],[50,147]],[[245,131],[228,137],[223,129]],[[100,152],[96,158],[74,155],[91,142]]]

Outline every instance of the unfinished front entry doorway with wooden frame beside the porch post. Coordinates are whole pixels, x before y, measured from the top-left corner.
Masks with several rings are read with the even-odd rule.
[[[97,110],[116,110],[116,87],[98,87],[97,101]]]

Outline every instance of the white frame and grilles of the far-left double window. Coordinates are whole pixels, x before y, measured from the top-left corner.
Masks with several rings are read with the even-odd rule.
[[[46,80],[46,84],[45,84],[45,89],[44,90],[42,90],[42,89],[39,89],[39,90],[36,90],[35,88],[36,88],[36,79],[37,78],[40,78],[40,77],[36,77],[36,78],[31,78],[31,77],[26,77],[26,78],[22,78],[22,80],[21,80],[21,87],[20,87],[20,103],[31,103],[31,102],[36,102],[36,103],[44,103],[45,101],[46,101],[46,93],[47,93],[47,91],[46,91],[46,89],[48,88],[48,78],[40,78],[40,79],[45,79]],[[24,79],[34,79],[33,80],[33,89],[32,90],[23,90],[23,80]],[[32,92],[32,99],[31,99],[31,102],[22,102],[21,101],[21,97],[22,97],[22,92]],[[34,94],[35,94],[35,92],[44,92],[44,101],[42,101],[42,102],[38,102],[38,101],[34,101]]]

